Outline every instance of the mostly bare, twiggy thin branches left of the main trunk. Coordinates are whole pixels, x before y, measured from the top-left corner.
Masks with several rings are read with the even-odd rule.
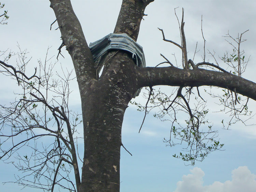
[[[26,173],[16,177],[15,183],[47,191],[54,186],[76,191],[70,173],[77,164],[74,134],[82,121],[68,107],[69,82],[74,77],[61,65],[61,71],[54,74],[59,64],[51,62],[48,49],[45,60],[38,60],[38,76],[32,78],[25,76],[31,59],[27,50],[19,48],[15,54],[19,70],[5,63],[10,55],[1,61],[1,73],[16,79],[22,92],[16,93],[18,100],[10,106],[0,105],[0,159]],[[28,153],[19,152],[20,148]]]

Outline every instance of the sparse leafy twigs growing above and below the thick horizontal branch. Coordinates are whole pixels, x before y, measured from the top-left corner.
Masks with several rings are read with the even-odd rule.
[[[176,14],[175,8],[175,15]],[[206,66],[210,67],[212,70],[216,71],[223,71],[225,73],[228,73],[223,68],[219,67],[219,63],[217,62],[216,58],[214,57],[214,54],[212,54],[209,50],[208,53],[210,56],[212,56],[216,62],[216,64],[205,62],[205,39],[203,36],[203,30],[201,25],[201,31],[202,31],[202,37],[204,42],[203,47],[203,62],[194,64],[193,60],[187,59],[187,48],[186,48],[186,40],[185,40],[185,32],[184,32],[184,10],[182,9],[182,22],[180,26],[179,19],[177,17],[179,26],[180,26],[180,34],[181,34],[181,45],[178,43],[175,43],[172,40],[167,40],[165,38],[165,34],[162,29],[158,28],[162,32],[163,41],[170,42],[177,47],[181,48],[182,50],[182,66],[184,69],[189,69],[192,67],[193,69],[197,69],[199,66]],[[248,30],[247,30],[248,31]],[[246,31],[245,31],[246,32]],[[245,59],[244,50],[240,51],[240,45],[245,40],[242,39],[242,35],[245,33],[238,34],[238,38],[234,39],[232,36],[227,34],[227,36],[230,39],[232,39],[237,45],[238,48],[233,45],[231,42],[227,41],[230,45],[232,45],[233,48],[233,54],[230,54],[230,57],[228,52],[224,54],[224,57],[221,57],[220,59],[224,61],[224,63],[227,65],[225,68],[231,68],[234,72],[232,72],[235,75],[241,76],[241,74],[245,71],[246,66],[248,64],[248,60]],[[196,54],[196,51],[195,51]],[[195,57],[194,54],[194,57]],[[156,65],[158,67],[160,64],[163,63],[169,63],[171,66],[172,63],[161,54],[163,58],[166,59],[165,62],[159,63]],[[249,57],[250,58],[250,57]],[[187,67],[186,67],[187,66]],[[230,72],[231,73],[231,72]],[[183,89],[185,88],[185,91],[183,93]],[[195,90],[196,89],[196,90]],[[218,98],[219,105],[223,107],[220,112],[227,112],[230,114],[230,120],[227,125],[227,129],[229,126],[233,123],[236,123],[237,121],[242,121],[245,124],[245,121],[252,118],[254,116],[252,114],[252,111],[248,111],[248,100],[249,98],[244,98],[242,95],[238,95],[236,92],[236,89],[229,90],[229,89],[222,89],[224,94],[216,94],[215,92],[218,92],[216,89],[214,92],[210,89],[204,89],[205,92],[208,92],[208,94],[211,95],[213,98]],[[148,99],[145,106],[142,106],[140,103],[137,102],[131,102],[132,104],[135,104],[138,106],[139,111],[144,111],[145,116],[148,114],[151,110],[156,111],[154,112],[154,117],[161,119],[162,121],[170,121],[171,122],[171,130],[170,130],[170,137],[168,139],[164,138],[163,141],[167,143],[167,146],[175,146],[177,144],[180,144],[183,146],[182,151],[180,154],[174,154],[173,157],[180,158],[183,161],[187,161],[188,164],[195,164],[195,161],[203,161],[205,157],[208,156],[208,154],[215,150],[220,150],[224,144],[221,144],[219,142],[218,138],[218,131],[213,128],[213,125],[209,120],[206,118],[209,109],[207,108],[207,102],[204,101],[204,99],[200,96],[200,92],[198,87],[177,87],[173,90],[171,94],[166,94],[160,91],[160,89],[156,92],[153,91],[153,89],[150,87],[149,89],[146,89],[148,93],[144,93],[143,97],[145,99]],[[209,91],[208,91],[209,90]],[[196,93],[197,92],[197,96]],[[223,93],[222,92],[222,93]],[[194,96],[195,95],[195,96]],[[194,97],[194,98],[193,98]],[[193,103],[195,105],[194,108],[190,107],[189,103]],[[180,119],[184,120],[182,117],[184,117],[185,114],[188,119],[185,120],[185,123],[181,122]],[[241,116],[247,116],[247,119],[243,120]],[[178,118],[179,117],[179,118]],[[144,123],[145,117],[143,119],[142,125]],[[223,123],[223,127],[225,128],[225,124]],[[142,127],[141,125],[141,127]],[[140,128],[141,129],[141,128]]]

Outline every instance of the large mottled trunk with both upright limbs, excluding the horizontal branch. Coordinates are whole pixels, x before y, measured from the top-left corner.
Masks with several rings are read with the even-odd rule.
[[[92,55],[70,0],[50,1],[63,45],[73,60],[81,95],[85,150],[81,185],[77,189],[119,191],[121,129],[125,109],[139,88],[136,65],[131,54],[110,51],[107,58],[111,59],[97,79]],[[144,10],[152,1],[123,0],[114,33],[127,33],[136,41]]]

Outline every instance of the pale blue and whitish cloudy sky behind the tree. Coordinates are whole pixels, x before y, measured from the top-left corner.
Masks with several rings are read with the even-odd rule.
[[[57,49],[61,44],[60,32],[56,29],[57,23],[50,31],[50,25],[55,20],[54,12],[49,8],[48,0],[2,0],[5,9],[8,10],[10,19],[8,25],[1,25],[0,50],[11,49],[17,52],[17,44],[22,49],[27,49],[32,57],[31,68],[33,72],[37,60],[44,60],[47,47],[51,47],[49,55],[57,56]],[[75,14],[85,34],[87,43],[94,42],[103,36],[112,33],[120,10],[121,0],[73,0],[71,1]],[[175,53],[178,65],[180,65],[180,50],[174,45],[163,42],[161,32],[163,29],[167,39],[180,43],[180,34],[174,8],[179,7],[177,15],[181,17],[181,8],[185,10],[185,34],[188,49],[188,57],[193,58],[196,43],[200,50],[194,62],[201,62],[203,55],[203,39],[201,34],[201,17],[203,18],[203,34],[206,39],[206,50],[215,51],[216,56],[223,56],[230,45],[225,41],[228,32],[233,36],[244,32],[247,39],[242,45],[246,56],[250,56],[250,62],[243,77],[256,82],[254,61],[256,56],[256,1],[197,1],[197,0],[155,0],[147,6],[144,19],[141,23],[138,43],[143,47],[146,65],[154,67],[163,61],[160,53],[175,63],[172,54]],[[1,14],[1,13],[0,13]],[[59,57],[57,65],[72,69],[72,61],[67,51],[63,48],[65,58]],[[206,55],[209,62],[213,58]],[[1,59],[1,58],[0,58]],[[16,59],[12,62],[15,64]],[[53,60],[54,62],[55,60]],[[12,64],[12,63],[9,63]],[[221,63],[225,68],[225,65]],[[15,81],[0,74],[0,103],[8,103],[15,98],[14,92],[18,91]],[[80,100],[77,99],[79,90],[76,81],[72,83],[73,92],[70,96],[70,107],[81,111]],[[156,88],[157,89],[157,88]],[[171,87],[162,87],[165,92],[171,92]],[[203,89],[202,89],[203,90]],[[208,118],[219,131],[221,143],[224,143],[224,151],[211,153],[203,162],[196,162],[194,166],[185,166],[180,159],[172,157],[179,152],[178,147],[166,147],[163,138],[170,134],[170,123],[162,122],[153,117],[153,113],[147,115],[141,133],[138,133],[144,114],[136,110],[136,106],[129,105],[126,110],[123,128],[122,142],[132,153],[130,156],[121,148],[120,161],[120,191],[121,192],[236,192],[255,191],[256,189],[256,126],[244,126],[242,123],[234,124],[230,130],[222,129],[221,121],[227,121],[229,114],[215,113],[219,106],[215,100],[203,94],[207,100],[210,113]],[[135,99],[136,102],[145,104],[142,94]],[[256,108],[255,101],[249,101],[251,110]],[[254,110],[255,112],[255,110]],[[183,117],[181,117],[183,118]],[[254,119],[248,124],[255,123]],[[80,128],[81,129],[81,128]],[[81,130],[82,134],[82,130]],[[80,146],[83,146],[80,143]],[[80,151],[82,149],[80,148]],[[82,154],[82,152],[80,153]],[[2,185],[2,182],[14,180],[18,173],[11,164],[0,162],[0,186],[3,192],[14,192],[22,189],[12,183]],[[4,174],[2,174],[4,173]],[[36,191],[26,188],[23,191]],[[40,191],[40,190],[38,190]]]

